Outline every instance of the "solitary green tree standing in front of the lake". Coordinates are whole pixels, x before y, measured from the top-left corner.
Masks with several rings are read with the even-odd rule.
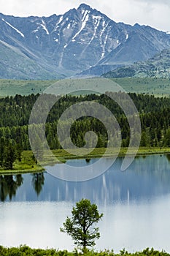
[[[61,232],[72,236],[74,244],[81,246],[82,251],[85,252],[87,246],[94,246],[95,239],[100,237],[95,224],[101,217],[103,214],[98,213],[96,204],[91,204],[88,199],[82,199],[72,208],[72,218],[66,217]]]

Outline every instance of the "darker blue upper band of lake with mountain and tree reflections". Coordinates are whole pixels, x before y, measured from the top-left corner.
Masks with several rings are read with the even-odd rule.
[[[0,200],[76,202],[85,197],[104,204],[151,200],[170,194],[169,159],[170,155],[137,157],[128,170],[120,172],[123,159],[119,158],[102,176],[84,182],[62,181],[48,173],[1,176]],[[93,161],[74,159],[68,164],[90,165]],[[53,168],[57,171],[58,166]]]

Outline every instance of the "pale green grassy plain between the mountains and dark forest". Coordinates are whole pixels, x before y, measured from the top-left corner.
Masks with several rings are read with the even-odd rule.
[[[127,92],[154,94],[156,96],[165,96],[170,94],[170,80],[168,78],[113,78],[117,84],[123,87]],[[0,80],[0,97],[15,96],[15,94],[29,95],[42,93],[48,86],[57,82],[58,80]],[[69,83],[61,85],[58,83],[58,94],[69,90]],[[84,84],[85,86],[85,84]],[[72,84],[72,90],[76,91],[82,89],[80,80]],[[83,87],[85,89],[85,87]],[[97,87],[96,87],[97,90]],[[87,93],[90,93],[87,92]]]

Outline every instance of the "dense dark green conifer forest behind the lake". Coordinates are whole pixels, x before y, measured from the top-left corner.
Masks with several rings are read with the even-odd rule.
[[[123,110],[114,102],[109,96],[112,92],[107,94],[87,94],[83,96],[65,95],[58,99],[55,95],[43,95],[43,106],[47,108],[49,99],[52,102],[56,102],[51,108],[47,121],[45,124],[45,131],[47,137],[47,143],[51,149],[62,148],[58,141],[57,126],[58,119],[62,113],[70,106],[80,102],[98,102],[109,109],[112,114],[117,118],[117,122],[121,129],[122,147],[127,147],[130,139],[130,127],[128,120],[123,113]],[[125,97],[125,93],[118,92],[116,97],[123,100],[123,105],[127,105],[128,101]],[[148,94],[128,94],[136,105],[139,111],[139,118],[142,126],[142,138],[140,146],[142,147],[169,147],[170,146],[170,98],[169,97],[154,97]],[[5,97],[0,99],[0,165],[4,169],[12,169],[12,163],[16,159],[20,161],[22,151],[31,150],[28,137],[28,123],[31,110],[38,99],[39,94],[31,94],[28,96],[15,95],[15,97]],[[58,100],[57,100],[58,99]],[[89,103],[90,104],[90,103]],[[83,108],[82,105],[82,113]],[[98,109],[94,110],[95,116]],[[69,113],[68,113],[69,115]],[[68,123],[69,123],[68,116]],[[108,126],[111,127],[112,137],[115,140],[118,136],[117,129],[112,127],[112,122],[104,116]],[[130,118],[134,118],[131,116]],[[36,127],[39,128],[39,120],[36,120]],[[63,127],[62,127],[63,125]],[[64,129],[66,129],[66,122],[61,124],[61,130],[63,131],[63,144],[67,146],[67,138],[64,138]],[[108,134],[104,124],[97,118],[92,116],[82,116],[73,122],[71,127],[72,143],[78,147],[85,145],[85,133],[88,131],[96,132],[98,136],[97,147],[107,147]],[[38,136],[38,134],[37,134]],[[136,135],[138,136],[138,135]],[[112,138],[111,138],[112,139]],[[88,139],[88,147],[90,148],[90,138]]]

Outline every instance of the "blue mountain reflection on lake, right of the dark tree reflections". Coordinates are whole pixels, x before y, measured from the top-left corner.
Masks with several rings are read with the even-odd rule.
[[[109,159],[104,159],[109,161]],[[85,163],[85,160],[72,160],[68,164],[80,166],[93,163]],[[102,176],[85,182],[66,182],[51,178],[46,174],[47,184],[45,200],[73,201],[76,202],[82,197],[88,197],[96,203],[112,204],[117,201],[151,200],[170,193],[170,165],[166,156],[154,155],[147,157],[136,157],[131,167],[125,172],[120,171],[123,158],[118,158],[115,165]],[[56,171],[58,167],[56,166]]]

